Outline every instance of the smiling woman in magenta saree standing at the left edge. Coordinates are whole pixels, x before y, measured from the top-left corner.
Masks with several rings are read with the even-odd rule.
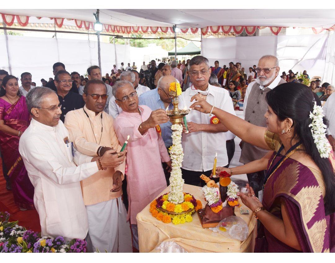
[[[1,154],[8,169],[14,201],[21,210],[26,210],[34,209],[34,187],[28,178],[18,145],[21,134],[30,123],[30,117],[25,97],[17,94],[16,77],[6,76],[0,94]]]

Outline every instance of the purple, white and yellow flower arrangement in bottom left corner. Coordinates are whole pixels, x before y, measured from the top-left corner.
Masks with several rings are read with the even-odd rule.
[[[86,252],[86,241],[74,239],[66,242],[62,236],[41,237],[40,233],[26,230],[9,222],[10,214],[0,212],[0,253],[80,253]]]

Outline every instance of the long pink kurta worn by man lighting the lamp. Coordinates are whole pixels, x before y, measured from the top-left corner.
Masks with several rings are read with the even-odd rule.
[[[155,128],[150,128],[143,135],[138,131],[140,124],[151,114],[150,108],[145,105],[139,106],[139,109],[141,115],[122,111],[114,122],[121,145],[130,135],[126,148],[126,178],[131,224],[137,224],[136,215],[166,188],[161,163],[170,161],[164,141]]]

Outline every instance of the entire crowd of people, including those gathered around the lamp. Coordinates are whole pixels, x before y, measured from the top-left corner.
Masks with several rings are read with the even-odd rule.
[[[247,174],[249,193],[239,195],[261,223],[255,251],[335,252],[334,153],[327,148],[335,150],[334,86],[304,85],[291,71],[280,75],[270,55],[248,72],[239,62],[210,66],[203,56],[137,69],[121,63],[103,77],[90,66],[84,77],[57,62],[41,87],[29,72],[19,86],[0,70],[6,187],[21,210],[37,209],[42,236],[85,238],[89,252],[139,249],[136,215],[169,184],[166,109],[173,109],[170,83],[179,82],[179,108],[192,109],[188,133],[183,123],[185,183],[203,185],[200,175],[212,175],[217,153],[217,174]],[[320,99],[329,122],[314,125]],[[325,130],[313,130],[323,123],[328,140]],[[229,167],[236,136],[244,165]]]

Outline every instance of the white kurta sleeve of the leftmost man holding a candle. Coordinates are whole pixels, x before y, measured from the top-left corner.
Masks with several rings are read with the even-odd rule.
[[[79,182],[99,171],[96,162],[70,167],[69,161],[69,167],[64,167],[50,146],[34,136],[30,136],[23,143],[20,143],[20,154],[24,161],[35,167],[41,174],[61,185]]]

